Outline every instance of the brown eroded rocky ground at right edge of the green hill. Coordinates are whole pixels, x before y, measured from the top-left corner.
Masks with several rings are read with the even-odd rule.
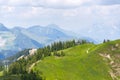
[[[100,56],[104,58],[104,60],[107,60],[109,63],[111,70],[109,71],[109,74],[111,75],[113,80],[120,80],[118,77],[120,77],[120,45],[117,43],[113,46],[111,46],[111,49],[109,49],[110,53],[99,53]]]

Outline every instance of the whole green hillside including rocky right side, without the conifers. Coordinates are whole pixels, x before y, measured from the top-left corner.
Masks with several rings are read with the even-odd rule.
[[[120,40],[79,45],[63,52],[64,57],[46,57],[33,70],[42,72],[46,80],[119,80]]]

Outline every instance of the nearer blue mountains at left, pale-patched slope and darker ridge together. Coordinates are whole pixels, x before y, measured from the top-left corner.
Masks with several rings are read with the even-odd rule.
[[[27,37],[19,32],[20,29],[10,30],[3,24],[0,28],[0,59],[12,56],[20,50],[26,48],[38,48],[43,47],[42,44]]]

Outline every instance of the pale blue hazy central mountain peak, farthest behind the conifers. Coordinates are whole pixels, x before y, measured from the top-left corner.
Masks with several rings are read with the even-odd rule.
[[[54,26],[54,25],[53,25]],[[69,40],[75,38],[74,36],[68,35],[62,30],[59,30],[57,27],[41,27],[41,26],[32,26],[27,29],[33,35],[36,35],[45,45],[51,44],[52,42],[59,40]]]

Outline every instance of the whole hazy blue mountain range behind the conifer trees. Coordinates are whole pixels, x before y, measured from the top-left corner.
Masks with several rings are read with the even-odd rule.
[[[8,29],[0,24],[0,59],[9,57],[28,48],[41,48],[59,40],[76,38],[74,33],[65,31],[57,25],[14,27]]]

